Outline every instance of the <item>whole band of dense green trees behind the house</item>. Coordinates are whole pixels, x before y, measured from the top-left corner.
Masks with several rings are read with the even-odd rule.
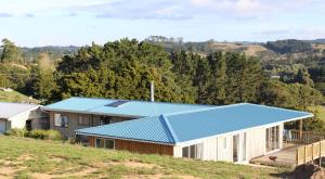
[[[3,49],[13,47],[3,43]],[[2,56],[12,56],[12,52],[15,50],[3,50]],[[1,57],[1,65],[9,63],[13,63],[12,57]],[[60,61],[40,53],[36,62],[25,65],[21,91],[46,103],[69,97],[150,100],[151,81],[155,82],[156,101],[165,102],[213,105],[250,102],[308,110],[322,99],[306,71],[297,75],[295,82],[284,82],[269,78],[259,59],[243,53],[200,55],[182,49],[167,52],[162,47],[135,39],[104,46],[92,43]],[[14,86],[15,72],[4,68],[0,71],[8,74],[6,86]]]

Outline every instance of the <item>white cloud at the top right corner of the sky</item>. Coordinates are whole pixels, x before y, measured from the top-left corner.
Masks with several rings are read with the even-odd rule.
[[[299,13],[324,4],[322,0],[191,0],[192,7],[205,13],[235,18],[268,18],[271,15]]]

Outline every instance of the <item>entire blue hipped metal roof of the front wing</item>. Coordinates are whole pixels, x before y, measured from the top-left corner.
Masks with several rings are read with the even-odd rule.
[[[174,144],[312,116],[307,112],[242,103],[79,129],[77,133]]]

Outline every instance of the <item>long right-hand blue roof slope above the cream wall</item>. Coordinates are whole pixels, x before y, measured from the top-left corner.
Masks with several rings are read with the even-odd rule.
[[[180,142],[310,116],[311,113],[247,103],[166,115]]]

